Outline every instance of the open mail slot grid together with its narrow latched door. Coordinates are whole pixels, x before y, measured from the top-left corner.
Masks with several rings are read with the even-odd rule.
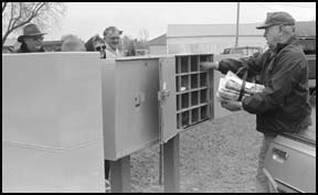
[[[213,72],[201,71],[201,62],[213,62],[213,54],[160,59],[160,141],[213,118]]]

